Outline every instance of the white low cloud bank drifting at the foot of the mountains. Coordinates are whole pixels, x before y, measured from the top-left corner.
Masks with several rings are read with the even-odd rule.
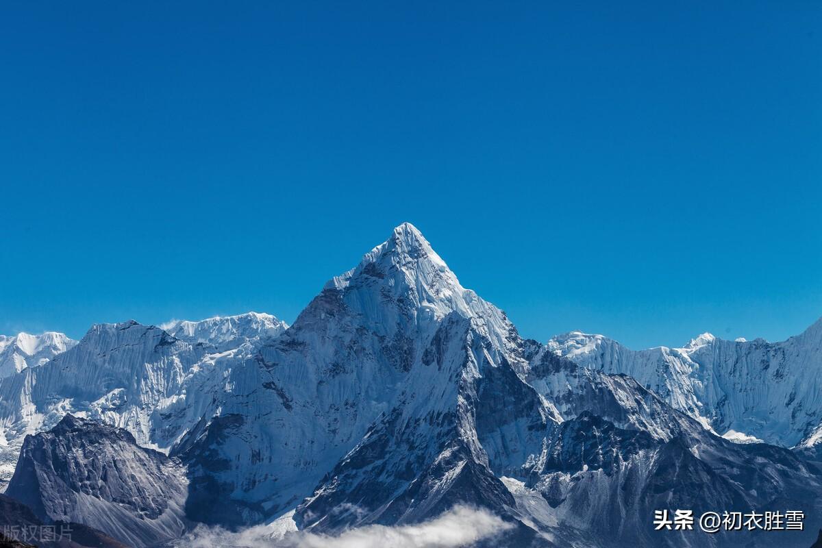
[[[337,536],[286,531],[282,523],[240,532],[197,527],[177,548],[461,548],[513,527],[485,509],[455,506],[427,522],[414,525],[368,525]]]

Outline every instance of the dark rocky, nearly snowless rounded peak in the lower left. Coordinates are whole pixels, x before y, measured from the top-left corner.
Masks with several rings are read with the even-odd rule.
[[[45,521],[80,522],[152,546],[186,529],[182,467],[127,431],[66,415],[27,436],[7,495]]]

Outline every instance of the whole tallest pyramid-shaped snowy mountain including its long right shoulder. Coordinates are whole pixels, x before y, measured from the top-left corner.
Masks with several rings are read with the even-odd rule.
[[[469,503],[515,524],[499,546],[655,546],[649,516],[676,503],[778,499],[819,515],[817,468],[785,449],[731,444],[627,376],[522,340],[409,225],[227,382],[219,411],[173,452],[189,463],[189,515],[210,523],[297,505],[299,527],[335,533]]]

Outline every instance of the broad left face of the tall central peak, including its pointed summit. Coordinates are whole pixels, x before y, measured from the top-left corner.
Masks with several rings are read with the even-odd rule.
[[[224,514],[203,519],[250,523],[311,495],[409,388],[409,372],[436,355],[451,313],[475,320],[496,348],[510,344],[505,315],[462,288],[416,228],[400,225],[231,371],[219,417],[205,417],[175,450],[191,463],[193,515],[219,500]]]

